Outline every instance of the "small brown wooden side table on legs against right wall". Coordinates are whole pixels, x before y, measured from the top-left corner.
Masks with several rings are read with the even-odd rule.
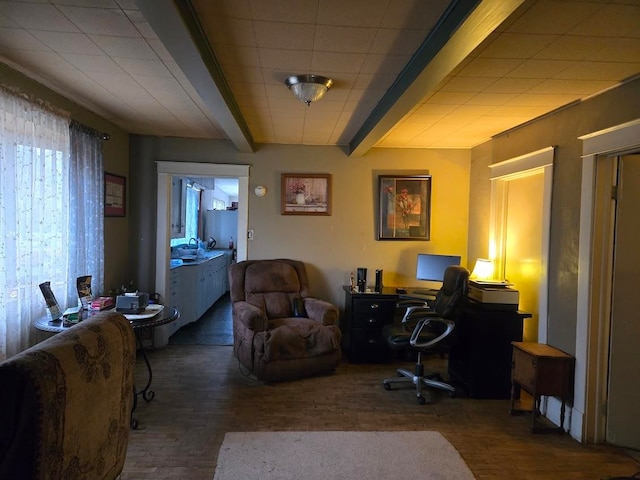
[[[513,345],[513,363],[511,367],[511,415],[529,410],[516,408],[516,400],[520,398],[520,390],[525,390],[533,397],[531,406],[531,431],[564,431],[564,414],[566,404],[573,402],[573,374],[575,358],[557,348],[543,343],[511,342]],[[559,427],[542,427],[537,425],[540,416],[540,397],[543,395],[559,397]]]

